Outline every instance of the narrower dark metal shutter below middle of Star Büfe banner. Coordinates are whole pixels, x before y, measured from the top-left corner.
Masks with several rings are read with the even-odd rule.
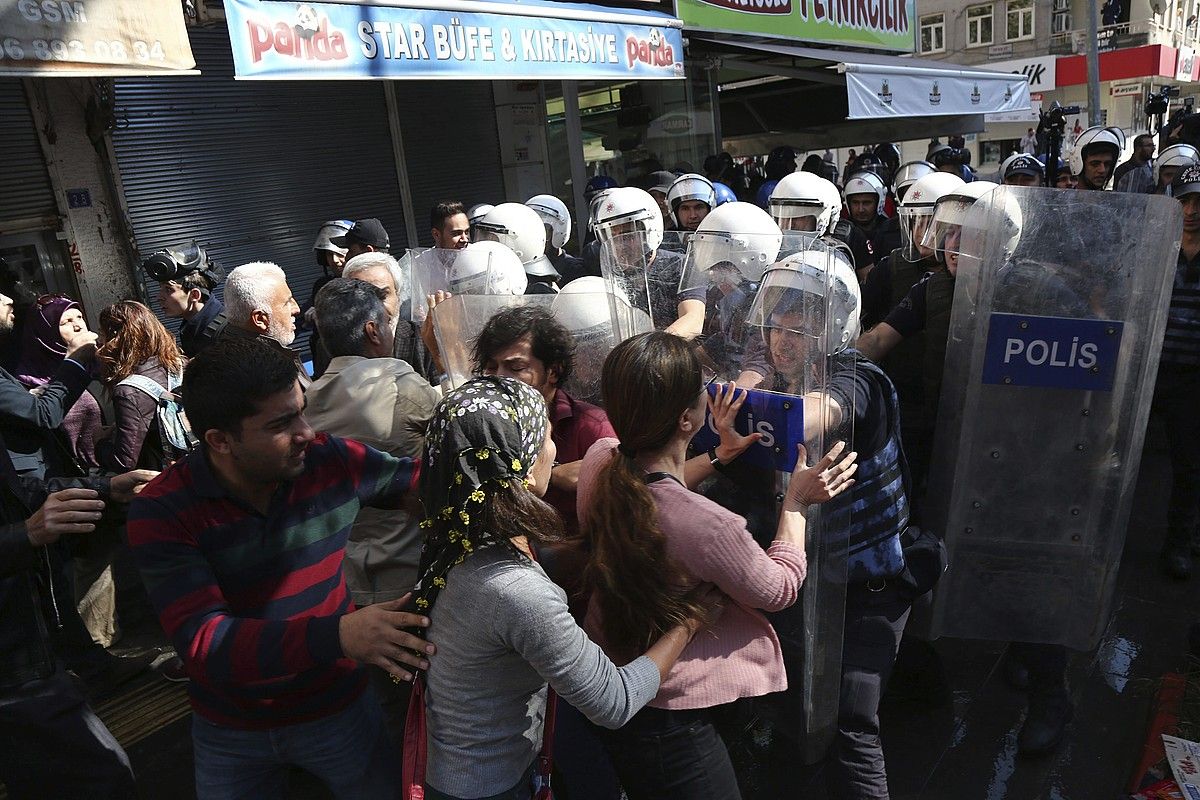
[[[442,200],[504,200],[500,139],[490,80],[397,80],[396,107],[419,243],[433,246],[430,210]]]

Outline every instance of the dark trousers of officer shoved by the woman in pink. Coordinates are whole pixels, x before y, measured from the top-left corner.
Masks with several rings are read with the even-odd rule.
[[[880,740],[880,699],[895,664],[911,603],[890,583],[880,591],[846,590],[838,733],[827,765],[838,800],[887,800],[888,774]]]

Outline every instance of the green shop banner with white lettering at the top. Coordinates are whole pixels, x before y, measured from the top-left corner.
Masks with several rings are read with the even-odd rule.
[[[676,0],[688,30],[912,53],[916,0]]]

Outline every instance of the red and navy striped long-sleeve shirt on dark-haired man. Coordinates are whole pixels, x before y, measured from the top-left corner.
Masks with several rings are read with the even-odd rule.
[[[359,697],[364,672],[338,638],[354,610],[342,552],[361,506],[400,507],[415,480],[407,458],[320,434],[266,515],[222,488],[203,449],[146,485],[130,507],[130,546],[197,714],[264,729]]]

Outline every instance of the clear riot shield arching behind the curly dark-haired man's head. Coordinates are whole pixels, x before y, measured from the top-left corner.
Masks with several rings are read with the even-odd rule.
[[[599,289],[557,295],[455,295],[438,303],[432,314],[433,330],[451,385],[458,386],[486,368],[474,362],[474,348],[479,332],[493,315],[515,306],[539,307],[553,314],[575,339],[575,360],[563,390],[575,399],[599,405],[604,361],[620,341],[612,309],[623,305],[612,302],[602,284]],[[620,321],[630,324],[628,319]]]

